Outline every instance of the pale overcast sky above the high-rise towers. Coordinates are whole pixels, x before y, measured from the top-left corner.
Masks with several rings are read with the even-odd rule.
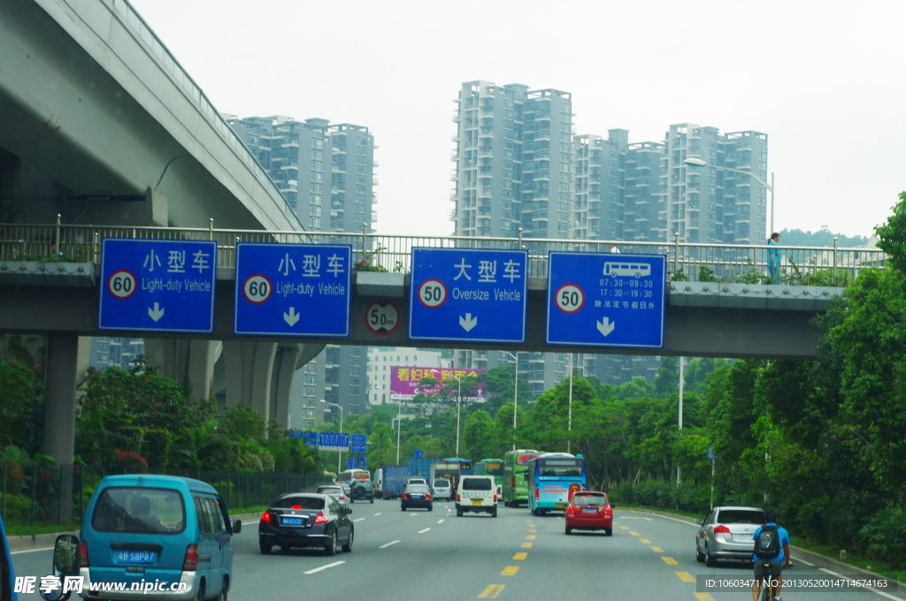
[[[461,82],[573,94],[578,133],[768,135],[775,228],[872,234],[906,190],[906,3],[131,0],[240,117],[371,129],[381,234],[448,235]]]

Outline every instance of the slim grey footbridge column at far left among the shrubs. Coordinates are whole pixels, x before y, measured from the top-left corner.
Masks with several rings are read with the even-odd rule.
[[[75,453],[75,386],[79,367],[79,337],[53,332],[47,335],[47,362],[44,370],[43,452],[57,460],[63,470],[63,520],[72,517],[72,460]],[[53,513],[57,507],[52,503]],[[56,517],[56,516],[54,516]]]

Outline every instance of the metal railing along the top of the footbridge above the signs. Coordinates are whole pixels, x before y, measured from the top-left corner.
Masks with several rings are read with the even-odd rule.
[[[59,220],[58,220],[59,221]],[[608,253],[617,244],[622,253],[661,254],[668,260],[670,280],[770,283],[765,245],[645,243],[606,240],[555,240],[475,236],[406,236],[352,232],[282,232],[221,230],[214,220],[207,228],[114,227],[67,224],[0,224],[0,261],[101,262],[101,239],[217,240],[217,266],[236,266],[236,243],[340,243],[352,246],[357,269],[408,272],[414,247],[524,249],[530,277],[547,276],[547,253],[570,251]],[[801,285],[844,285],[868,267],[882,268],[887,255],[879,248],[772,246],[779,255],[783,281]]]

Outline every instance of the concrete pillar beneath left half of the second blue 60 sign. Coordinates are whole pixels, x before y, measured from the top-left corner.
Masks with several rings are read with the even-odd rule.
[[[276,352],[276,342],[224,342],[227,407],[245,403],[270,421]]]

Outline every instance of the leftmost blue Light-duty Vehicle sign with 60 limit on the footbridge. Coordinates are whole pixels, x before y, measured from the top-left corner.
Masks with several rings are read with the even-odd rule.
[[[104,238],[100,329],[214,331],[217,242]]]

